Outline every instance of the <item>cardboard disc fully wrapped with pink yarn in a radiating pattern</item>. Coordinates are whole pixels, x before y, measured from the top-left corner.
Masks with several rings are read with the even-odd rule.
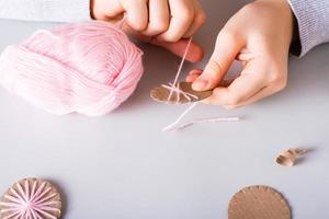
[[[60,195],[44,180],[21,180],[0,199],[0,219],[58,219],[60,215]]]

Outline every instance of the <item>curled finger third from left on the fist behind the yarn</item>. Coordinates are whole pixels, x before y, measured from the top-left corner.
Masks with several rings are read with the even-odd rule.
[[[149,22],[143,32],[144,35],[156,36],[168,30],[170,22],[168,0],[149,0],[148,13]]]

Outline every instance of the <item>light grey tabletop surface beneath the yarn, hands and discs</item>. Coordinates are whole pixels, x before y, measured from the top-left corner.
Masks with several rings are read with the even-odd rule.
[[[206,58],[217,32],[245,3],[204,0],[208,22],[196,39]],[[1,21],[0,49],[54,25]],[[224,219],[236,192],[264,184],[286,196],[294,218],[329,218],[329,45],[292,58],[280,94],[231,112],[198,106],[188,118],[238,115],[243,122],[178,134],[160,129],[186,106],[155,103],[149,91],[173,78],[180,59],[141,48],[146,70],[137,91],[105,117],[54,116],[0,90],[1,193],[37,176],[60,187],[66,219]],[[276,165],[275,154],[290,147],[315,151],[295,168]]]

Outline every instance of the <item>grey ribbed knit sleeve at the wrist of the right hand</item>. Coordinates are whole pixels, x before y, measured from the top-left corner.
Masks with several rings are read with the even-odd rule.
[[[290,0],[298,25],[299,42],[292,53],[304,56],[313,47],[329,42],[329,0]]]

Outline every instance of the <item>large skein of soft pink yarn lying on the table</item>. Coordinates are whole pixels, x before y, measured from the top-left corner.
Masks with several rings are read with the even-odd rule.
[[[0,84],[53,114],[100,116],[134,92],[143,74],[141,56],[111,24],[67,24],[7,47]]]

